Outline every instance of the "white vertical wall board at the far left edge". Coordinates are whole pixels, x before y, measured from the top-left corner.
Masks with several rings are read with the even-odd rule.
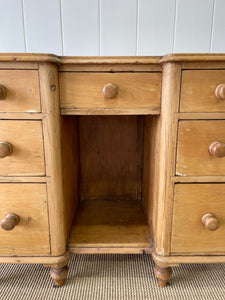
[[[0,0],[0,52],[25,52],[22,0]]]

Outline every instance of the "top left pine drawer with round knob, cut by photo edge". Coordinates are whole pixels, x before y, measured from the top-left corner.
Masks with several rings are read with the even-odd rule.
[[[0,112],[40,112],[38,71],[0,70]]]

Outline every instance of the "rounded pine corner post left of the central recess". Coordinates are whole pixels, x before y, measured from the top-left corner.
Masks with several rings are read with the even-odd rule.
[[[64,203],[62,171],[62,137],[59,110],[58,70],[55,64],[40,63],[40,92],[43,113],[44,148],[47,183],[51,253],[62,255],[66,251],[67,212]]]

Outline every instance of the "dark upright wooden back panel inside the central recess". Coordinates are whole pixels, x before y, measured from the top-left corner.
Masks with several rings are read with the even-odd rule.
[[[137,199],[138,125],[137,116],[79,117],[81,199]]]

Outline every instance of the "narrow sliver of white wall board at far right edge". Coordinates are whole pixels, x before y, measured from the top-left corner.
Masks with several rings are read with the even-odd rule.
[[[225,52],[225,1],[215,0],[212,52]]]

